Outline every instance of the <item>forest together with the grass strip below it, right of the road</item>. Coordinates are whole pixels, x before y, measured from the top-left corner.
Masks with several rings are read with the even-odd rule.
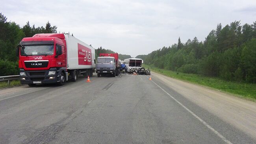
[[[219,23],[204,41],[197,37],[139,55],[166,76],[256,99],[256,22]]]

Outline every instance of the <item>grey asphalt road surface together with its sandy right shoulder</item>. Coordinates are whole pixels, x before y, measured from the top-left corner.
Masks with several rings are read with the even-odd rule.
[[[232,109],[236,97],[219,112],[213,90],[159,74],[90,79],[0,90],[0,144],[256,144],[255,113]]]

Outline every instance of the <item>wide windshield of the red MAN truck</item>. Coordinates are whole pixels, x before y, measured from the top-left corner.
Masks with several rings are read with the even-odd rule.
[[[21,56],[53,55],[54,45],[25,45],[20,50]]]

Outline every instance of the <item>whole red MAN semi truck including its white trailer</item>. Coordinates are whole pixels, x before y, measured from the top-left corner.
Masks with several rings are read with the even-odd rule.
[[[95,72],[95,49],[70,34],[35,34],[17,46],[20,82],[36,84],[76,81]]]

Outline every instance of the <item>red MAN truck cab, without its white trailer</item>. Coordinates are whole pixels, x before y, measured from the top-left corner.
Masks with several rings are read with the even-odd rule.
[[[22,84],[65,83],[67,46],[64,34],[35,34],[23,38],[17,54]]]

